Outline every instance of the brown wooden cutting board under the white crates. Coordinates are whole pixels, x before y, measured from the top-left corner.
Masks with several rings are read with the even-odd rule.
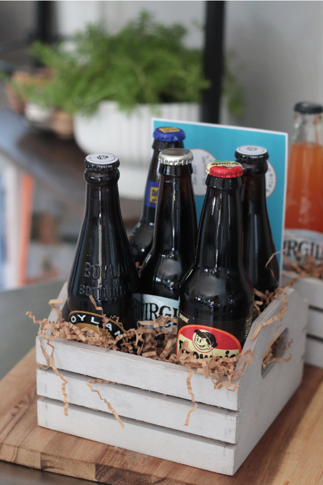
[[[41,428],[35,370],[33,349],[0,381],[1,460],[111,485],[323,484],[323,370],[317,367],[305,367],[301,388],[234,477]]]

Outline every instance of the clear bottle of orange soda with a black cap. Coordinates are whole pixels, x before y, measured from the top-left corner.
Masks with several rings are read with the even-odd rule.
[[[288,159],[284,255],[295,261],[323,258],[323,148],[321,104],[294,107],[294,133]]]

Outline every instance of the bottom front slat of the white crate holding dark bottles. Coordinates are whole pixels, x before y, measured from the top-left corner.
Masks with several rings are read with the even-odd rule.
[[[64,404],[41,397],[37,401],[38,424],[45,428],[74,434],[112,446],[126,448],[164,460],[189,465],[211,472],[233,475],[234,451],[237,445],[181,433],[161,426],[124,418],[122,428],[114,416],[69,406],[64,416]]]

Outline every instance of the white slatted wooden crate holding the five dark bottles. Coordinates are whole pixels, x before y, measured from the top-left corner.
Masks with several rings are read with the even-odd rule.
[[[38,424],[233,475],[301,383],[307,304],[295,290],[288,293],[289,306],[280,330],[288,329],[288,339],[293,340],[286,352],[292,359],[273,363],[262,373],[262,358],[279,322],[264,326],[258,337],[245,342],[243,350],[251,349],[254,361],[237,379],[237,391],[215,390],[210,379],[194,374],[191,385],[198,407],[191,413],[188,426],[184,422],[192,402],[184,367],[63,339],[51,344],[55,347],[55,365],[68,380],[69,415],[64,415],[61,379],[51,369],[38,369],[37,392],[42,396],[38,400]],[[268,306],[252,324],[249,335],[259,323],[279,313],[282,301],[280,296]],[[55,318],[53,310],[50,319]],[[41,340],[48,355],[51,353],[44,339],[38,337],[37,363],[46,365]],[[93,388],[115,408],[124,428],[86,386],[89,378],[119,383],[93,384]]]

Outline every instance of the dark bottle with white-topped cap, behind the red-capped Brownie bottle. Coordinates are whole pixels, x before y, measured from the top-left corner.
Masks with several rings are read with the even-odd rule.
[[[268,152],[256,145],[243,145],[236,150],[236,160],[242,164],[243,265],[254,288],[274,291],[279,280],[266,205]]]

